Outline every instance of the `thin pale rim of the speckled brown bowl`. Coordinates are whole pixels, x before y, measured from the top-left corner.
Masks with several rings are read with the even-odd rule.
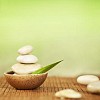
[[[4,75],[9,75],[9,76],[12,76],[15,72],[14,71],[7,71],[7,72],[4,72]],[[13,76],[41,76],[41,75],[46,75],[48,74],[47,72],[45,73],[41,73],[41,74],[17,74],[15,73],[16,75],[13,75]]]

